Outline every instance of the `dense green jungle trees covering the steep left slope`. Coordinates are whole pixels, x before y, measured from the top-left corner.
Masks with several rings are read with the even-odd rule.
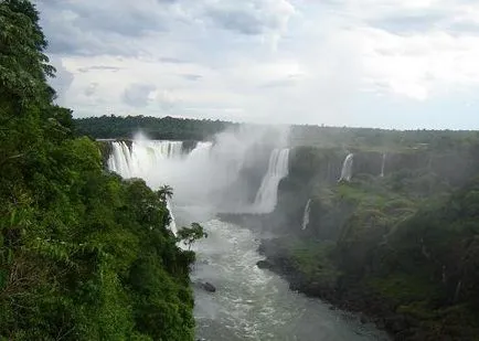
[[[170,193],[74,138],[45,47],[34,6],[0,1],[0,340],[192,340]]]

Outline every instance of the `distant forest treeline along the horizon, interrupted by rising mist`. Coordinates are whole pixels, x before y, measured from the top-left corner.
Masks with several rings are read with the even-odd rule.
[[[143,132],[151,139],[202,141],[211,140],[225,129],[238,124],[175,117],[102,116],[74,119],[77,136],[94,139],[132,139]],[[456,150],[475,147],[478,131],[468,130],[391,130],[324,126],[290,126],[289,145],[334,148],[369,148],[370,150]]]

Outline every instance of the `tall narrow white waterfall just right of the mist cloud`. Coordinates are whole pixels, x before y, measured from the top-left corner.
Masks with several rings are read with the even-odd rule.
[[[275,210],[278,199],[279,181],[288,175],[289,149],[275,149],[269,157],[268,171],[263,178],[256,193],[254,211],[270,213]]]

